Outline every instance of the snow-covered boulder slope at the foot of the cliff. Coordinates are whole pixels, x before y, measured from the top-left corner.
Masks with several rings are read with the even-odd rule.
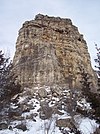
[[[36,89],[32,92],[25,88],[2,110],[2,116],[6,116],[0,123],[0,134],[91,134],[95,131],[95,120],[76,110],[91,112],[90,104],[79,91],[63,89],[58,94],[50,87]]]

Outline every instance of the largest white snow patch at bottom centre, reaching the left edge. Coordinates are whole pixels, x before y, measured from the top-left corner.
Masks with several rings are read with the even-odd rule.
[[[11,130],[1,130],[0,134],[61,134],[60,130],[55,126],[56,118],[51,118],[50,120],[41,120],[37,118],[37,122],[27,120],[26,126],[28,128],[27,131],[22,131],[19,129],[14,128],[13,131]],[[16,123],[17,124],[17,123]]]

